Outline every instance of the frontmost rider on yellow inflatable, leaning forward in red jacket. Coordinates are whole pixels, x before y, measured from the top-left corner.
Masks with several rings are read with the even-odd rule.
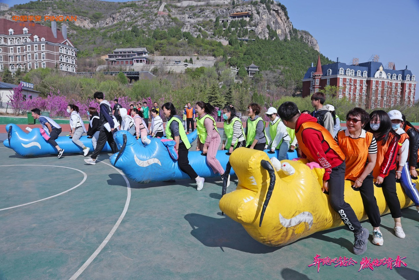
[[[300,114],[293,102],[284,102],[278,114],[285,126],[295,129],[303,157],[320,164],[325,169],[323,190],[329,192],[330,205],[340,215],[344,224],[353,232],[353,253],[360,255],[367,250],[369,231],[359,223],[352,207],[345,202],[345,155],[326,128],[308,114]]]

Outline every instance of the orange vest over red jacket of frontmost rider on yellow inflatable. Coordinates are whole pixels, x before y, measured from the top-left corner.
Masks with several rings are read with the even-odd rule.
[[[324,154],[326,154],[326,156],[330,151],[332,151],[332,152],[335,152],[341,160],[345,160],[344,153],[342,152],[341,148],[339,148],[338,144],[336,143],[335,139],[333,139],[333,136],[330,134],[330,132],[326,128],[318,124],[317,122],[306,121],[300,125],[300,128],[298,129],[298,131],[297,130],[295,131],[295,137],[297,137],[298,147],[300,147],[300,150],[304,153],[304,155],[307,156],[308,160],[317,162],[318,158],[316,157],[316,155],[312,155],[310,150],[304,144],[302,133],[303,133],[303,130],[307,128],[311,128],[311,129],[321,132],[324,139],[323,141],[321,141],[322,145],[323,145],[323,142],[326,142],[327,145],[329,146],[329,148],[324,151]],[[308,141],[310,141],[310,139],[308,139]]]

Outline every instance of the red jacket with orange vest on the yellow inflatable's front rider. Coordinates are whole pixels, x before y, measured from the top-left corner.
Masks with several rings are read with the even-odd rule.
[[[310,128],[301,127],[305,122],[312,122]],[[300,131],[300,128],[303,130]],[[295,124],[295,136],[303,157],[319,163],[326,171],[323,180],[329,180],[332,168],[342,164],[345,160],[345,155],[333,140],[330,132],[318,124],[316,118],[309,114],[301,114]],[[308,151],[308,155],[303,153],[303,150],[306,153]]]

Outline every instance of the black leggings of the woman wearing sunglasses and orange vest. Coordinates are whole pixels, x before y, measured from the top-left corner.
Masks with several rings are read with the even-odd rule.
[[[365,177],[361,187],[359,188],[359,194],[364,204],[365,212],[368,215],[371,225],[374,228],[380,227],[381,217],[380,210],[377,205],[377,200],[374,196],[374,182],[372,172]]]

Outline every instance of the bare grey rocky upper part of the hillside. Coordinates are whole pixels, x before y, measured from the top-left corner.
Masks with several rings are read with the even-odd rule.
[[[233,5],[234,4],[234,5]],[[317,41],[306,31],[293,28],[288,18],[286,7],[273,0],[259,1],[166,1],[142,0],[130,2],[106,2],[98,0],[47,0],[31,1],[27,4],[14,5],[10,10],[0,13],[0,17],[12,19],[13,15],[76,15],[77,21],[69,23],[69,37],[76,46],[83,51],[88,44],[88,39],[81,39],[81,29],[105,32],[108,35],[130,30],[136,26],[140,30],[168,29],[180,27],[182,32],[190,32],[194,37],[202,37],[221,42],[227,42],[228,37],[224,31],[228,26],[224,24],[221,32],[214,32],[214,21],[228,18],[229,14],[236,12],[250,12],[251,18],[242,29],[246,32],[239,33],[243,38],[260,39],[270,38],[272,30],[278,38],[288,40],[297,33],[310,47],[319,51]],[[42,24],[50,24],[41,22]],[[211,24],[212,23],[212,24]],[[71,28],[73,27],[73,28]],[[96,43],[98,43],[96,41]]]

